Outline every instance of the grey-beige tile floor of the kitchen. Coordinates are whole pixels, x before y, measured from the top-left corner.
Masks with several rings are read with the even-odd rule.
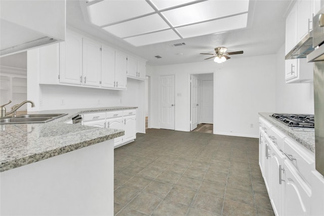
[[[258,139],[147,129],[114,157],[117,216],[274,215]]]

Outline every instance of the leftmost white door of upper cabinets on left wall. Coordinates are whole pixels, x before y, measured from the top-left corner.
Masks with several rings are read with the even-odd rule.
[[[60,43],[60,82],[82,84],[82,36],[68,31]]]

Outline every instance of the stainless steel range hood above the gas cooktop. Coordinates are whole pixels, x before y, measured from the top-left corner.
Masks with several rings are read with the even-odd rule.
[[[314,50],[313,31],[308,32],[301,41],[286,55],[285,59],[306,58]]]

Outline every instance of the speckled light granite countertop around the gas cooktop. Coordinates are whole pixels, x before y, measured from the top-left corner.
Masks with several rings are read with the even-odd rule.
[[[259,115],[269,121],[271,124],[279,128],[282,132],[289,135],[292,139],[296,140],[302,146],[309,151],[315,153],[315,129],[314,128],[302,128],[302,127],[290,127],[281,121],[273,118],[273,113],[259,112]]]

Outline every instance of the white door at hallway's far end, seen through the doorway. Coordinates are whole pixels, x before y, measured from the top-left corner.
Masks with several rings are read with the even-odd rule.
[[[201,81],[201,123],[213,123],[214,81]]]

